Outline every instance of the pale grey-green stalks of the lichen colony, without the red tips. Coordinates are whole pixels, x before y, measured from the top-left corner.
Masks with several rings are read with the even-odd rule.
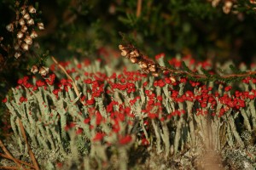
[[[66,69],[72,70],[77,64],[78,62],[74,61],[67,65]],[[76,80],[76,84],[80,92],[84,94],[85,99],[91,99],[92,85],[84,83],[84,80],[90,76],[85,76],[84,72],[102,72],[111,77],[114,71],[109,69],[108,66],[102,67],[101,63],[96,61],[91,65],[83,65],[82,68],[70,73],[73,79],[80,77]],[[55,74],[57,77],[63,77],[61,71],[57,71]],[[117,72],[117,75],[119,74],[121,72]],[[93,77],[90,78],[95,80]],[[154,77],[140,78],[142,80],[134,82],[136,85],[136,92],[134,93],[111,89],[108,81],[104,81],[104,88],[113,90],[113,93],[104,93],[96,97],[95,104],[93,104],[95,110],[93,111],[91,105],[79,104],[81,96],[77,96],[72,87],[68,87],[67,92],[65,90],[59,92],[58,98],[52,93],[55,89],[54,86],[39,87],[35,91],[32,88],[13,88],[14,99],[9,99],[6,105],[11,113],[13,139],[19,144],[20,152],[26,152],[26,146],[22,139],[17,118],[20,118],[23,123],[32,150],[35,152],[42,168],[55,169],[56,162],[65,161],[68,162],[70,168],[79,166],[81,169],[127,169],[132,159],[132,157],[129,157],[130,151],[137,150],[140,147],[147,148],[146,152],[154,152],[154,156],[162,156],[165,162],[170,159],[172,163],[178,162],[181,167],[183,165],[192,166],[193,157],[204,150],[211,149],[221,152],[221,150],[229,148],[229,150],[223,152],[226,161],[232,163],[239,159],[245,164],[244,167],[253,166],[255,150],[250,151],[254,158],[250,158],[250,161],[243,161],[243,158],[239,158],[241,150],[233,149],[239,147],[242,150],[247,150],[249,146],[255,147],[255,139],[253,139],[256,130],[255,99],[245,99],[246,106],[244,108],[240,110],[226,108],[224,116],[219,116],[221,109],[225,108],[225,105],[218,99],[219,97],[215,98],[217,104],[214,108],[210,104],[201,108],[196,101],[184,100],[183,102],[177,102],[172,97],[172,90],[170,90],[177,90],[178,97],[183,96],[188,90],[200,96],[203,93],[201,87],[191,89],[188,82],[179,82],[178,85],[166,83],[163,87],[160,87],[154,85]],[[180,78],[177,77],[177,81],[179,80]],[[111,81],[120,83],[119,78]],[[148,82],[148,84],[143,86],[143,82]],[[255,84],[252,82],[241,84],[243,87],[240,87],[240,89],[242,90],[255,89]],[[231,86],[235,87],[236,84],[231,84]],[[212,87],[208,94],[218,92],[220,96],[226,94],[231,97],[232,95],[230,91],[224,91],[224,85],[221,83],[213,84],[209,82],[207,87]],[[154,118],[151,117],[152,115],[149,116],[148,112],[145,112],[150,100],[146,90],[160,96],[162,99],[154,98],[155,103],[160,102],[160,105],[154,105],[150,108],[150,113],[157,115]],[[27,101],[20,103],[21,96],[25,96]],[[137,99],[137,96],[140,98]],[[108,99],[119,104],[113,105],[113,111],[120,112],[120,105],[131,108],[133,116],[125,116],[125,120],[117,122],[119,124],[118,133],[113,133],[115,122],[107,111]],[[131,105],[131,101],[134,99],[137,100]],[[208,111],[209,114],[199,114],[200,111],[197,109],[200,109],[201,113]],[[100,112],[103,119],[98,125],[96,123],[96,111]],[[175,111],[184,112],[166,118]],[[215,116],[211,115],[213,111]],[[123,113],[121,112],[121,114]],[[84,119],[89,117],[90,123],[84,123]],[[75,125],[69,127],[69,122],[74,122]],[[148,124],[145,124],[145,122],[148,122]],[[79,129],[82,129],[83,133],[76,134]],[[98,133],[104,133],[102,139],[96,139]],[[129,136],[129,138],[127,137],[128,142],[120,144],[120,138],[126,136]],[[148,145],[144,146],[143,141],[148,141]],[[234,151],[239,154],[233,156]],[[47,159],[45,159],[46,157]],[[177,157],[181,160],[177,161]],[[152,160],[152,157],[150,160]],[[172,163],[168,166],[170,167]],[[157,162],[153,161],[148,162],[148,164],[152,164],[151,167],[158,165]],[[163,169],[167,169],[168,166],[164,166]]]

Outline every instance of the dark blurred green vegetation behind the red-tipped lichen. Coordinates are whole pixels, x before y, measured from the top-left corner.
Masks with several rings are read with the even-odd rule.
[[[15,7],[17,2],[21,5]],[[248,65],[256,58],[254,0],[38,0],[36,4],[2,0],[0,37],[6,47],[11,47],[14,39],[6,26],[23,4],[37,8],[45,29],[38,31],[40,49],[33,49],[36,53],[15,59],[0,48],[0,99],[18,77],[48,54],[58,59],[94,59],[102,49],[118,50],[122,42],[119,31],[151,57],[192,54],[195,59],[232,59],[235,64]],[[1,108],[3,114],[3,105]]]

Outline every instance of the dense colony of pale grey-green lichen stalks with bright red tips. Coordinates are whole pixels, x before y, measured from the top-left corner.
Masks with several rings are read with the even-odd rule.
[[[165,66],[164,54],[156,59]],[[178,72],[182,61],[193,71],[212,68],[208,61],[196,63],[190,56],[168,62]],[[72,79],[63,77],[58,65]],[[241,82],[227,84],[170,77],[170,72],[152,77],[129,64],[123,71],[109,65],[99,60],[67,61],[51,65],[54,73],[44,79],[20,78],[13,95],[3,100],[11,112],[13,139],[20,152],[27,148],[19,119],[42,168],[57,168],[61,166],[57,162],[62,162],[69,168],[127,169],[132,151],[142,147],[165,157],[166,166],[173,168],[177,163],[178,167],[193,167],[183,154],[192,160],[206,150],[219,154],[226,150],[223,155],[230,160],[230,150],[238,147],[234,151],[244,154],[245,164],[255,166],[256,91],[249,72]],[[230,70],[227,65],[222,69]]]

